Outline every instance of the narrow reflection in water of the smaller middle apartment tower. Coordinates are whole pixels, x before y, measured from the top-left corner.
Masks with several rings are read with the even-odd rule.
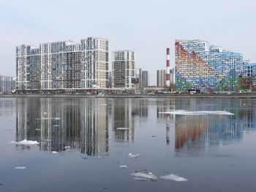
[[[113,99],[111,102],[112,131],[115,140],[117,142],[134,141],[135,128],[134,118],[132,118],[132,99]]]

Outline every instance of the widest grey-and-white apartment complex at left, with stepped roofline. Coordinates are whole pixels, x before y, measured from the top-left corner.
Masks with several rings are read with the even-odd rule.
[[[16,47],[17,88],[106,88],[108,40],[89,37]]]

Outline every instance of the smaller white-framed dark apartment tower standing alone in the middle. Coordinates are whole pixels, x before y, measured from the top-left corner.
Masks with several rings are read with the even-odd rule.
[[[135,53],[132,50],[113,52],[112,87],[134,88],[133,78],[135,78]]]

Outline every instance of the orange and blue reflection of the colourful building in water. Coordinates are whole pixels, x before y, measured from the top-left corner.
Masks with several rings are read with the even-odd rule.
[[[185,148],[199,147],[202,150],[206,142],[219,145],[227,139],[240,140],[242,137],[241,124],[233,123],[232,118],[223,115],[187,115],[176,117],[176,145],[180,151]]]

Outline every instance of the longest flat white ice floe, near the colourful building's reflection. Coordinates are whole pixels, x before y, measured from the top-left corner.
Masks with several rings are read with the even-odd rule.
[[[231,112],[226,111],[185,111],[185,110],[176,110],[170,112],[159,112],[163,114],[171,115],[234,115]]]

